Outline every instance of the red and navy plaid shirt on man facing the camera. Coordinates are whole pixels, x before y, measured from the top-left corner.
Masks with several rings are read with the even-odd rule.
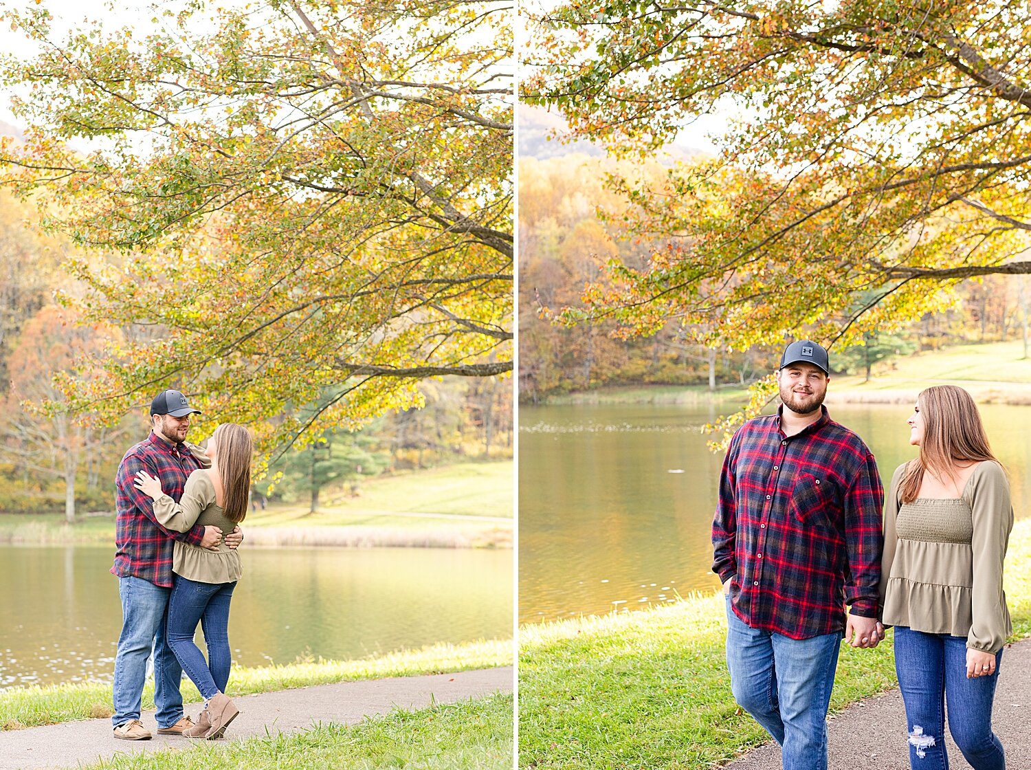
[[[779,409],[741,426],[712,522],[734,613],[792,639],[843,631],[845,604],[877,616],[884,488],[866,444],[822,411],[790,437]]]

